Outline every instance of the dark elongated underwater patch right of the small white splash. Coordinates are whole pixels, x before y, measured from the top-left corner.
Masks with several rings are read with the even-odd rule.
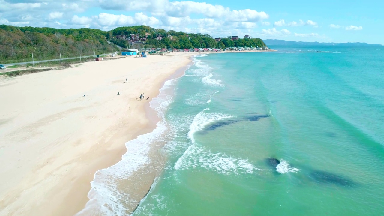
[[[314,170],[310,173],[310,178],[318,183],[328,183],[328,184],[337,184],[341,186],[355,186],[351,179],[338,174],[329,173],[321,170]]]

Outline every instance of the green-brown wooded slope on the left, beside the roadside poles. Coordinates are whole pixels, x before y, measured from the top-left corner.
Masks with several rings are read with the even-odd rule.
[[[111,53],[106,32],[98,29],[56,29],[0,25],[0,64]]]

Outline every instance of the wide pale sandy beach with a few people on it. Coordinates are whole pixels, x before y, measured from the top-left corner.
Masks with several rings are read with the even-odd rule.
[[[149,101],[199,54],[129,56],[0,79],[0,215],[72,216],[83,209],[94,173],[121,160],[124,143],[156,127]],[[141,93],[150,100],[140,101]]]

